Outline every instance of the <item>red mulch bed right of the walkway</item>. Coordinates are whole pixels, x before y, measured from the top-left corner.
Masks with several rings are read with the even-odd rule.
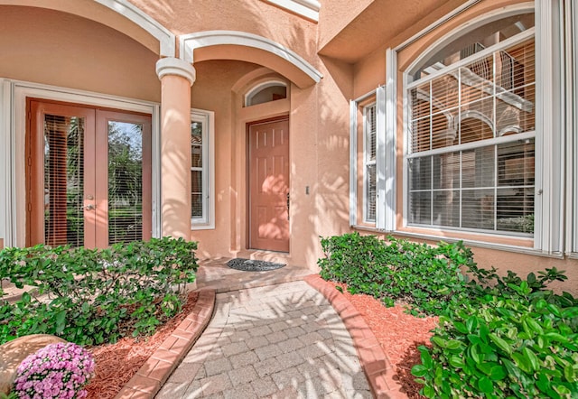
[[[414,382],[411,369],[421,363],[417,347],[429,345],[431,329],[437,326],[437,317],[416,318],[406,314],[401,304],[387,308],[372,296],[365,294],[351,295],[345,284],[340,285],[343,295],[359,311],[378,339],[381,348],[396,370],[397,383],[402,386],[401,392],[411,399],[423,398],[419,394],[422,385]]]

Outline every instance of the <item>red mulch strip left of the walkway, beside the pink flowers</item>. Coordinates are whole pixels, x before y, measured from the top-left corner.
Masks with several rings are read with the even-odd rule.
[[[163,344],[164,339],[168,338],[179,323],[191,313],[198,298],[198,292],[191,292],[182,311],[164,323],[151,337],[124,338],[118,340],[116,344],[89,348],[97,363],[97,370],[96,376],[86,387],[88,398],[115,397],[144,362]]]

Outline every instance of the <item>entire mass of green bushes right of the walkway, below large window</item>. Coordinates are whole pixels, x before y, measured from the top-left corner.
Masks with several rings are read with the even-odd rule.
[[[578,300],[548,291],[555,268],[528,274],[479,268],[461,243],[437,247],[357,233],[322,238],[325,280],[352,293],[440,314],[432,348],[412,369],[435,398],[578,397]],[[470,281],[460,273],[467,273]]]

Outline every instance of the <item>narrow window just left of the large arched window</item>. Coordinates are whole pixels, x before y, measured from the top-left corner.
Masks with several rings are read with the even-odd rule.
[[[376,221],[376,196],[377,196],[377,178],[376,178],[376,144],[377,144],[377,121],[376,121],[376,104],[371,104],[363,108],[363,130],[364,130],[364,156],[363,156],[363,173],[364,173],[364,211],[363,218],[366,222]]]

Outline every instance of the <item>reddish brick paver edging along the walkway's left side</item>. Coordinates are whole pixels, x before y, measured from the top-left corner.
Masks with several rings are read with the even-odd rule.
[[[215,307],[215,290],[201,290],[191,313],[139,368],[115,399],[150,399],[199,339]]]

